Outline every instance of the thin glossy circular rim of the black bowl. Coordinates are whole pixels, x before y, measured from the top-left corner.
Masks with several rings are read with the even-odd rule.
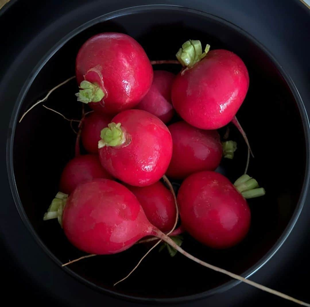
[[[286,241],[287,237],[290,235],[295,223],[297,222],[297,219],[299,218],[299,215],[302,211],[303,204],[305,202],[307,192],[308,192],[308,184],[309,184],[309,178],[310,178],[310,164],[309,164],[309,136],[310,136],[310,126],[309,126],[309,120],[306,108],[303,104],[302,98],[300,97],[300,94],[293,82],[293,80],[290,78],[290,75],[286,73],[286,71],[282,68],[282,66],[278,63],[276,58],[273,56],[272,52],[268,50],[262,43],[260,43],[256,38],[254,38],[251,34],[246,32],[241,27],[233,24],[232,22],[216,16],[214,14],[207,13],[205,11],[196,10],[184,6],[179,5],[166,5],[166,4],[153,4],[153,5],[139,5],[139,6],[132,6],[132,7],[126,7],[120,10],[111,11],[109,13],[103,14],[101,16],[98,16],[94,19],[91,19],[87,21],[86,23],[78,26],[76,29],[70,31],[68,34],[66,34],[62,39],[59,40],[58,43],[56,43],[45,55],[41,58],[41,60],[38,62],[38,64],[33,68],[32,73],[29,75],[29,77],[25,80],[23,87],[20,90],[20,93],[15,101],[15,105],[12,111],[11,120],[9,124],[9,133],[7,138],[7,150],[6,150],[6,156],[7,156],[7,173],[9,178],[9,183],[11,187],[11,193],[15,202],[15,206],[17,208],[17,211],[20,215],[20,218],[22,219],[24,225],[29,230],[29,232],[34,237],[35,241],[38,243],[38,245],[47,253],[47,255],[61,267],[61,261],[49,250],[49,248],[44,244],[44,242],[41,240],[41,238],[38,236],[36,231],[34,230],[32,224],[30,223],[27,214],[23,208],[22,202],[20,200],[17,186],[15,182],[15,175],[14,175],[14,167],[13,167],[13,144],[14,144],[14,136],[15,136],[15,128],[16,124],[18,122],[18,115],[20,111],[20,107],[22,106],[22,103],[24,101],[24,98],[26,94],[29,91],[29,88],[31,87],[31,84],[33,83],[34,79],[37,77],[39,71],[43,68],[43,66],[51,59],[51,57],[61,48],[64,46],[65,43],[67,43],[71,38],[73,38],[75,35],[79,34],[83,30],[103,21],[111,20],[116,17],[120,16],[126,16],[133,13],[139,13],[143,11],[153,11],[153,10],[172,10],[172,11],[182,11],[182,12],[188,12],[191,14],[200,15],[202,17],[207,17],[211,20],[217,21],[219,23],[222,23],[226,26],[229,26],[236,30],[237,32],[241,33],[243,36],[245,36],[247,39],[249,39],[252,43],[254,43],[261,51],[263,51],[268,58],[272,61],[272,63],[276,66],[277,70],[285,80],[286,84],[289,86],[291,93],[293,94],[293,97],[295,99],[295,102],[298,106],[299,114],[301,116],[302,124],[303,124],[303,132],[305,135],[305,141],[306,141],[306,165],[305,165],[305,175],[303,180],[303,186],[300,192],[299,200],[297,202],[296,208],[293,212],[292,217],[290,218],[290,221],[288,225],[286,226],[284,232],[281,234],[279,239],[275,242],[275,244],[270,248],[270,250],[259,260],[257,261],[252,267],[247,269],[245,272],[241,274],[244,278],[249,278],[252,276],[255,272],[257,272],[264,264],[268,262],[272,258],[272,256],[280,249],[282,244]],[[237,284],[241,283],[239,280],[230,280],[220,286],[217,286],[215,288],[209,289],[204,292],[192,294],[192,295],[186,295],[186,296],[178,296],[178,297],[169,297],[169,298],[156,298],[156,297],[143,297],[143,296],[133,296],[133,295],[127,295],[121,292],[105,289],[103,287],[100,287],[96,285],[93,282],[90,282],[86,278],[83,278],[82,276],[75,273],[73,270],[71,270],[69,267],[61,267],[66,273],[69,273],[70,276],[74,277],[79,282],[83,282],[87,286],[90,286],[91,288],[104,292],[105,294],[121,298],[124,300],[130,300],[135,302],[154,302],[154,303],[178,303],[178,302],[186,302],[186,301],[193,301],[198,299],[206,298],[207,296],[214,295],[216,293],[222,293],[224,291],[227,291],[231,289],[232,287],[236,286]]]

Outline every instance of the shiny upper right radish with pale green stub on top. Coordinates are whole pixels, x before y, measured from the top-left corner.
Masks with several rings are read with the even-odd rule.
[[[201,54],[199,41],[183,44],[177,58],[189,69],[176,76],[171,97],[175,110],[189,124],[218,129],[236,115],[246,97],[249,74],[239,56],[223,49],[208,52],[209,47]]]

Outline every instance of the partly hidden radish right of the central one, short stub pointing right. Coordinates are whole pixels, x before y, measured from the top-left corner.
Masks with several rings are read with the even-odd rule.
[[[222,156],[232,159],[236,142],[220,141],[216,130],[202,130],[184,121],[168,126],[172,136],[172,158],[166,175],[184,179],[202,170],[215,170]]]

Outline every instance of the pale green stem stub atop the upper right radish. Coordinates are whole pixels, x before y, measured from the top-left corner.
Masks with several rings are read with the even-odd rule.
[[[203,59],[209,49],[210,45],[206,45],[204,52],[202,52],[201,42],[190,39],[182,45],[175,56],[182,66],[190,68]]]

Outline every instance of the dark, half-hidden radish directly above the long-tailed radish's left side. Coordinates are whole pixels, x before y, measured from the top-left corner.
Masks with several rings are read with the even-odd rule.
[[[113,177],[100,164],[97,155],[82,155],[70,160],[60,176],[59,189],[70,194],[79,184],[93,178]]]

